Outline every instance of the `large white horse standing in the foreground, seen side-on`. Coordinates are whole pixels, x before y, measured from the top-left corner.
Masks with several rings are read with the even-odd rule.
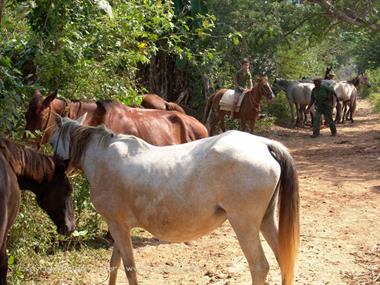
[[[261,232],[292,284],[299,245],[299,194],[294,161],[280,143],[239,131],[157,147],[104,127],[57,118],[57,155],[84,171],[90,197],[115,240],[109,284],[121,258],[137,284],[130,230],[183,242],[231,223],[247,258],[252,284],[264,284],[269,265]],[[279,194],[279,228],[275,208]]]

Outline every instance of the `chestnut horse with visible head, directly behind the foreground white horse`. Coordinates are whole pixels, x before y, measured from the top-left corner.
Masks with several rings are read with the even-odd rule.
[[[110,100],[82,102],[56,99],[35,92],[25,114],[27,130],[42,130],[46,143],[55,127],[55,114],[77,119],[87,113],[84,125],[104,124],[115,133],[130,134],[153,145],[173,145],[208,137],[205,126],[194,117],[174,111],[131,108]]]

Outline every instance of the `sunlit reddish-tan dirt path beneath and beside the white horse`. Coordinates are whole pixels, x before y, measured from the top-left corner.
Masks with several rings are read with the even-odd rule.
[[[290,149],[300,178],[295,283],[380,284],[380,116],[360,100],[354,124],[339,125],[335,138],[328,128],[321,133],[312,139],[310,129],[276,127],[271,135]],[[160,242],[145,231],[139,235],[134,253],[140,284],[251,284],[227,222],[189,244]],[[268,283],[281,284],[274,256],[263,244],[271,266]],[[107,284],[106,272],[94,275],[95,283]],[[127,284],[121,270],[118,284]]]

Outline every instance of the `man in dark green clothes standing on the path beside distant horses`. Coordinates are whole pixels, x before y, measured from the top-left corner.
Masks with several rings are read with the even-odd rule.
[[[315,87],[311,91],[311,100],[309,106],[306,108],[305,113],[310,111],[310,108],[315,103],[315,114],[313,118],[313,134],[312,138],[319,136],[321,114],[325,116],[327,123],[330,127],[331,136],[336,136],[336,127],[332,119],[333,97],[334,90],[330,87],[322,85],[322,79],[317,78],[313,80]]]

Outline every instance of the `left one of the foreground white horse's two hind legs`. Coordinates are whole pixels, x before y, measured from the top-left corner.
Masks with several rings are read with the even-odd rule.
[[[259,225],[251,218],[242,216],[229,217],[228,220],[238,238],[240,247],[247,259],[253,285],[265,284],[269,272],[269,264],[264,255],[260,241]]]

